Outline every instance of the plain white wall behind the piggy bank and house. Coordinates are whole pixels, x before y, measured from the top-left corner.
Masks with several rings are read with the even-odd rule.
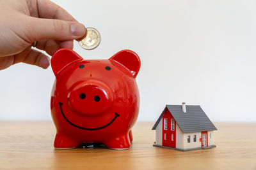
[[[54,2],[100,32],[95,50],[75,42],[85,59],[122,49],[140,55],[138,120],[156,121],[165,104],[186,102],[213,121],[256,121],[256,1]],[[17,64],[0,78],[0,120],[51,120],[51,67]]]

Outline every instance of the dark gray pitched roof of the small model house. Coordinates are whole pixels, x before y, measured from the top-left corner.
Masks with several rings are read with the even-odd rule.
[[[200,106],[191,105],[186,105],[186,113],[181,105],[166,105],[152,130],[156,129],[167,109],[184,133],[217,130]]]

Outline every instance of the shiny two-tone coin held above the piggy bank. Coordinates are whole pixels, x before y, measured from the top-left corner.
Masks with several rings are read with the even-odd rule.
[[[85,50],[93,50],[100,44],[100,33],[95,28],[86,28],[87,34],[84,39],[79,41],[79,45]]]

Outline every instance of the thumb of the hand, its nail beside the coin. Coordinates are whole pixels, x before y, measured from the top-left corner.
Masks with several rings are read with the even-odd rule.
[[[27,29],[31,36],[29,38],[31,42],[42,39],[59,41],[81,39],[86,34],[86,27],[78,22],[34,17],[31,17],[28,22]]]

